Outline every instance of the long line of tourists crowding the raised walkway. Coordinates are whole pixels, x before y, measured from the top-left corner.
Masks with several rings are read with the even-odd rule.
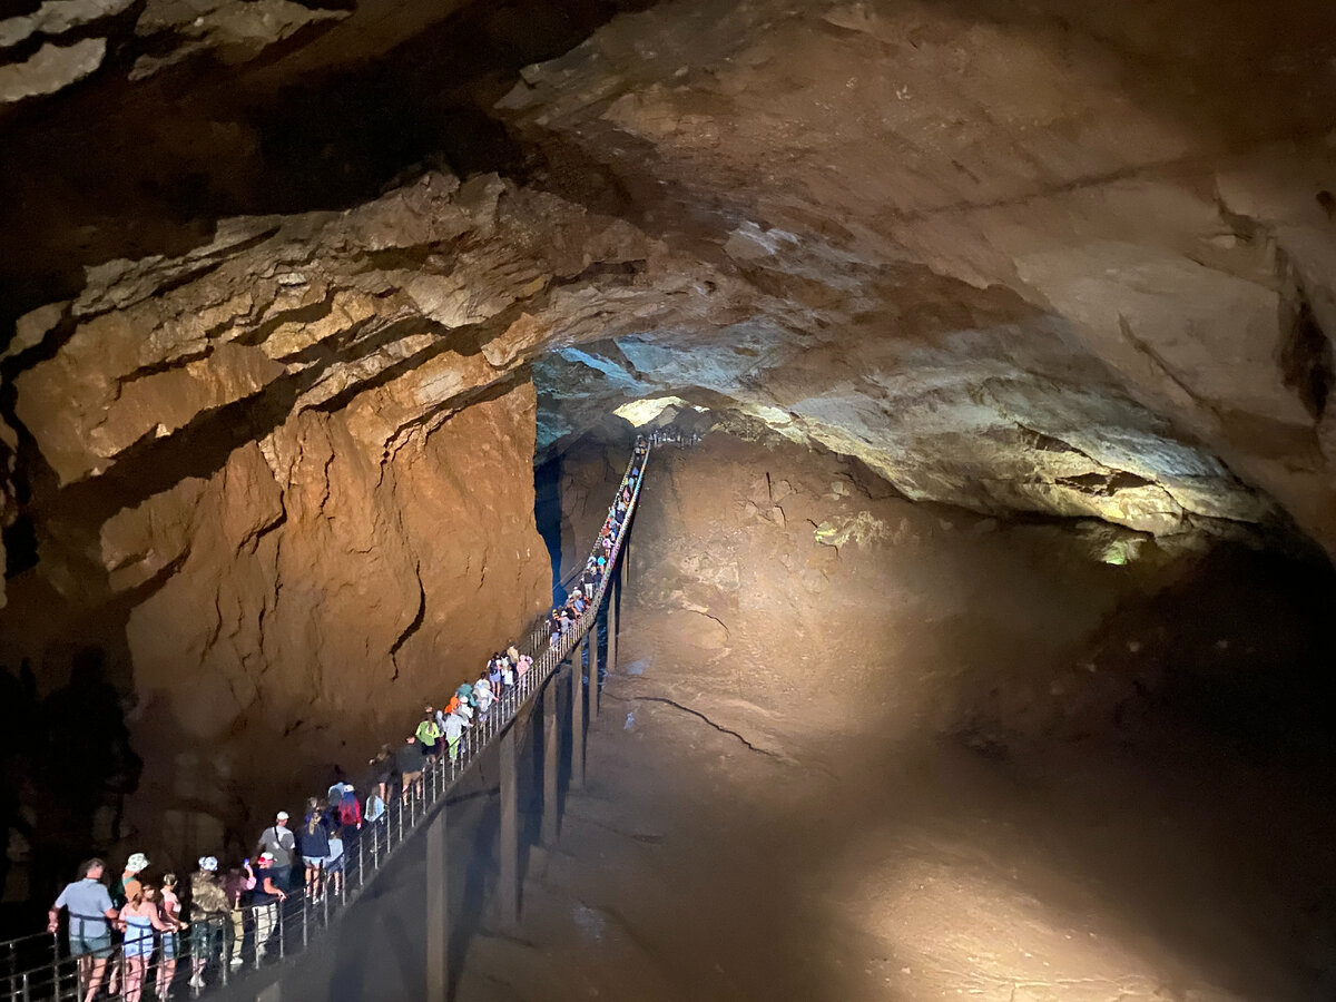
[[[593,603],[599,582],[612,560],[617,537],[631,510],[644,468],[648,444],[636,440],[631,470],[619,489],[588,562],[569,597],[546,619],[550,643],[577,628]],[[279,908],[289,896],[303,895],[303,907],[318,906],[327,896],[342,899],[350,851],[365,831],[374,844],[385,842],[378,828],[387,823],[386,803],[399,798],[407,806],[424,795],[424,771],[442,751],[457,762],[468,749],[468,735],[492,723],[498,705],[533,668],[533,657],[512,644],[497,651],[473,680],[461,683],[441,707],[426,705],[422,719],[403,744],[381,747],[370,760],[367,792],[362,798],[347,778],[335,770],[335,782],[323,798],[311,796],[299,824],[287,811],[261,832],[253,858],[219,871],[216,856],[200,856],[184,887],[176,874],[156,882],[144,878],[150,860],[134,852],[108,890],[107,864],[88,859],[77,878],[56,898],[48,912],[47,931],[59,930],[60,911],[69,916],[69,953],[77,958],[83,1002],[94,1002],[106,989],[107,998],[140,1002],[151,991],[159,1002],[171,997],[178,965],[188,970],[188,985],[204,987],[206,973],[223,965],[243,963],[243,945],[251,930],[257,963],[275,950],[282,938]],[[504,723],[500,721],[500,723]],[[184,908],[183,908],[184,896]],[[190,930],[188,949],[182,933]],[[114,942],[119,935],[119,947]],[[120,962],[112,962],[119,949]]]

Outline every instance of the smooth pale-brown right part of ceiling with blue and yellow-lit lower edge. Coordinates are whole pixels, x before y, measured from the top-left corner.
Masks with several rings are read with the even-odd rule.
[[[501,107],[530,143],[787,307],[599,365],[911,497],[1166,533],[1267,517],[1237,476],[1331,546],[1333,81],[1287,43],[1312,9],[977,7],[700,0],[526,71]],[[1312,90],[1257,94],[1291,73]]]

